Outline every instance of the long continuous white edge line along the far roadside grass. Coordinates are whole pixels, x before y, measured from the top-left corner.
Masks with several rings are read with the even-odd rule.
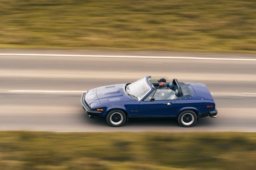
[[[68,55],[68,54],[16,54],[16,53],[0,53],[0,55],[256,61],[256,59],[234,59],[234,58],[229,59],[229,58],[184,57],[184,56],[173,56],[173,57],[158,56],[157,57],[157,56],[126,56],[126,55]]]

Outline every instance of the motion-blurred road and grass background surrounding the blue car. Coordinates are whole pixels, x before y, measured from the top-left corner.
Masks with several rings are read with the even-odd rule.
[[[82,109],[147,75],[205,83],[218,117],[113,128]],[[255,0],[0,0],[0,170],[254,170],[255,87]]]

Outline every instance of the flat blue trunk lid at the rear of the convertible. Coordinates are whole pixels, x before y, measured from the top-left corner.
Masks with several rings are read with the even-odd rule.
[[[203,83],[190,83],[198,99],[213,100],[212,94]]]

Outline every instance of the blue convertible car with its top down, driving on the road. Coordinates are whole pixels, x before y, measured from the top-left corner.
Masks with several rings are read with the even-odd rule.
[[[90,117],[105,117],[118,127],[130,117],[177,117],[183,127],[195,125],[200,117],[216,117],[214,99],[205,84],[166,82],[158,89],[156,77],[133,83],[113,84],[88,90],[82,95],[83,109]]]

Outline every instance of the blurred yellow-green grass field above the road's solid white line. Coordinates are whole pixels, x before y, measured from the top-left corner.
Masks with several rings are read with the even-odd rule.
[[[0,48],[256,52],[255,0],[0,0]]]

